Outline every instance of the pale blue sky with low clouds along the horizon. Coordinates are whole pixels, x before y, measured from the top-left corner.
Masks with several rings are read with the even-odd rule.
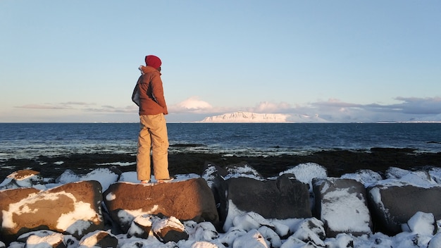
[[[1,0],[0,33],[0,122],[137,122],[147,54],[170,122],[441,120],[437,0]]]

